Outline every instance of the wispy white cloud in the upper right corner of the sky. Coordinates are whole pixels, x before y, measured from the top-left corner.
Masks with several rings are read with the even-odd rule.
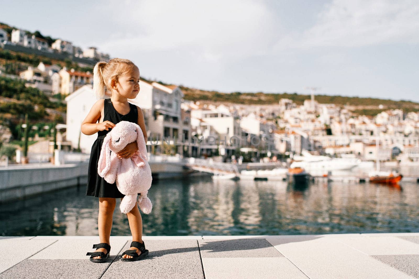
[[[300,45],[369,46],[419,43],[419,2],[334,0],[316,24],[297,38]]]

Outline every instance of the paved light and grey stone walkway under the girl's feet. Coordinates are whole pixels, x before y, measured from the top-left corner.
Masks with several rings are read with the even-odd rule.
[[[419,233],[145,236],[148,258],[91,263],[97,236],[0,237],[0,278],[419,278]],[[67,250],[67,251],[64,251]]]

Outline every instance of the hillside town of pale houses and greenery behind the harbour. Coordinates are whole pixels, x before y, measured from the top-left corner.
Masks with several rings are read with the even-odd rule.
[[[90,152],[95,136],[80,132],[96,99],[92,68],[110,55],[65,39],[0,23],[0,157],[23,145]],[[129,100],[145,116],[152,154],[272,160],[303,150],[363,160],[419,160],[419,104],[297,93],[220,93],[142,78]],[[379,139],[378,139],[379,138]],[[376,154],[377,139],[380,154]],[[48,158],[45,156],[43,158]],[[237,157],[236,157],[237,158]]]

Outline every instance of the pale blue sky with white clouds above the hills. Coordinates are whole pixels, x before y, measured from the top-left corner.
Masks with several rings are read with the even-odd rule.
[[[0,0],[0,22],[220,92],[419,102],[417,0]]]

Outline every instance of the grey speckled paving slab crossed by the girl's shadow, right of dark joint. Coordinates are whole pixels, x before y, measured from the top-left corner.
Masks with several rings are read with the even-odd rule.
[[[198,243],[202,258],[283,257],[266,239],[204,239]]]

